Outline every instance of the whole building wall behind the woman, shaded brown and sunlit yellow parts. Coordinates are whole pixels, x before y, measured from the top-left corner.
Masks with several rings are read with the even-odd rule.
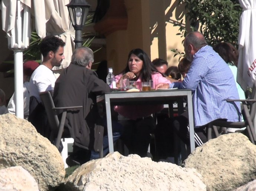
[[[183,19],[184,22],[184,6],[178,5],[178,0],[112,0],[111,6],[119,3],[125,6],[127,28],[106,34],[106,57],[108,67],[114,68],[114,74],[119,74],[125,68],[128,53],[134,48],[144,50],[151,60],[163,58],[169,66],[178,65],[179,56],[174,57],[171,49],[184,51],[184,38],[176,35],[180,32],[179,25],[183,24],[180,21]],[[118,14],[122,14],[117,12],[112,13],[112,17],[108,14],[113,23]]]

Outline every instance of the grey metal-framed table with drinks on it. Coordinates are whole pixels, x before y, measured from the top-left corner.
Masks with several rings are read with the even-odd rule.
[[[173,108],[173,102],[178,102],[178,113],[183,112],[183,98],[187,98],[188,103],[188,120],[190,133],[190,149],[191,152],[195,149],[194,141],[194,117],[192,105],[192,93],[190,89],[175,89],[175,90],[158,90],[150,92],[109,92],[99,96],[97,102],[105,100],[106,118],[108,126],[108,143],[109,153],[114,152],[112,122],[111,122],[111,106],[114,105],[143,105],[143,104],[168,104],[169,109]],[[170,111],[171,112],[171,111]]]

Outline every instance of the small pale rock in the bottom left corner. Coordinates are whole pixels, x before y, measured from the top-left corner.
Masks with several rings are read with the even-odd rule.
[[[0,190],[39,191],[36,180],[20,166],[0,170]]]

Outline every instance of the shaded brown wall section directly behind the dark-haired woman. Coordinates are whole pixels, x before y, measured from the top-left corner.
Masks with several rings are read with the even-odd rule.
[[[124,0],[127,11],[127,30],[115,31],[107,39],[108,66],[119,74],[127,65],[128,53],[141,48],[150,56],[149,0]]]

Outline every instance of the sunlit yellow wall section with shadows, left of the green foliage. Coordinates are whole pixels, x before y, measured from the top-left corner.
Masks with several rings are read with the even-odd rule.
[[[176,35],[180,33],[180,25],[185,26],[184,10],[177,0],[150,1],[151,60],[162,58],[167,60],[169,66],[178,65],[179,56],[174,57],[171,49],[184,52],[184,38]],[[181,20],[183,23],[180,23]]]

